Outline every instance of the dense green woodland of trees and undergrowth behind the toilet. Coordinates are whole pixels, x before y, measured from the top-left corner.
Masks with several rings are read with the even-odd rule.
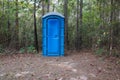
[[[65,49],[120,57],[120,0],[0,0],[0,53],[42,49],[42,16],[65,16]]]

